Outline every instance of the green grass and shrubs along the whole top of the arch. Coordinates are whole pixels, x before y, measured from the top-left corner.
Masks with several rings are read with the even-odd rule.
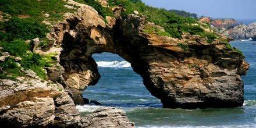
[[[151,6],[145,5],[145,3],[140,0],[109,0],[109,7],[105,8],[101,6],[95,0],[75,0],[80,3],[85,3],[89,6],[93,6],[95,10],[98,11],[99,15],[105,18],[105,16],[113,16],[111,8],[114,6],[122,5],[125,8],[125,12],[122,12],[122,16],[133,13],[137,10],[141,14],[148,17],[149,22],[153,22],[162,26],[166,33],[157,33],[158,35],[165,35],[174,38],[182,38],[182,33],[190,33],[201,35],[207,38],[208,42],[214,41],[216,38],[214,33],[205,32],[200,26],[194,25],[199,24],[198,20],[193,17],[184,17],[177,15],[173,11],[168,11],[166,9],[153,8]],[[145,31],[151,31],[154,28],[146,28]]]

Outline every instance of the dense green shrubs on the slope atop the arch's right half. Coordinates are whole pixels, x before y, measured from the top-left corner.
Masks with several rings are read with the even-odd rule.
[[[129,1],[129,0],[109,0],[109,6],[123,5],[126,9],[122,15],[133,13],[133,10],[137,10],[143,15],[148,17],[149,22],[153,22],[162,26],[170,37],[182,38],[182,33],[200,34],[204,37],[208,37],[208,42],[212,42],[216,37],[214,34],[206,33],[200,26],[197,19],[193,17],[184,17],[177,15],[176,12],[168,11],[166,9],[153,8],[145,5],[141,1]],[[167,34],[164,34],[167,35]]]

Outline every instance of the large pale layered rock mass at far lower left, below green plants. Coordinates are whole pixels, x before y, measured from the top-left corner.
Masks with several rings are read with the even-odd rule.
[[[0,124],[47,126],[54,122],[54,98],[62,95],[63,87],[39,79],[32,71],[26,73],[17,81],[0,80]]]

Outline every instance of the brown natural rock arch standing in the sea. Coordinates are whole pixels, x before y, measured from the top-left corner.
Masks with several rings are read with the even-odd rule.
[[[143,32],[146,17],[107,17],[105,23],[90,6],[55,26],[52,38],[62,47],[59,79],[76,104],[81,92],[97,83],[99,73],[91,55],[111,52],[131,63],[145,87],[166,108],[233,107],[243,105],[241,75],[248,64],[244,56],[226,47],[223,39],[209,44],[198,35],[183,34],[182,40]],[[188,49],[180,47],[182,42]]]

